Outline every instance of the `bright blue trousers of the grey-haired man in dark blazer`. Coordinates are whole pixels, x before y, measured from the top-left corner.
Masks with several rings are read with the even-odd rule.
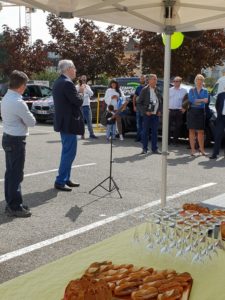
[[[55,183],[65,185],[70,180],[72,163],[77,154],[77,136],[75,134],[60,132],[62,142],[62,153],[58,176]]]

